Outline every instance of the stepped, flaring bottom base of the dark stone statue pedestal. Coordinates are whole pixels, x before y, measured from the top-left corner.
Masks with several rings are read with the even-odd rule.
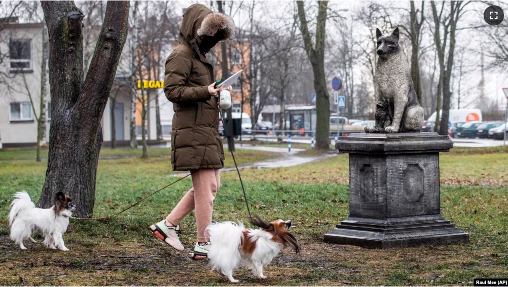
[[[467,243],[469,235],[440,214],[396,219],[349,217],[325,234],[324,241],[367,248]]]

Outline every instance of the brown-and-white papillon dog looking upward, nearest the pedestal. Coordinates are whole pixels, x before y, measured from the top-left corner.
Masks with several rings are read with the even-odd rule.
[[[255,216],[251,222],[260,229],[244,228],[243,224],[234,222],[214,223],[206,229],[210,236],[208,258],[212,270],[218,270],[231,282],[238,282],[233,278],[233,270],[240,265],[251,267],[257,278],[266,278],[263,266],[270,264],[282,247],[300,253],[296,238],[288,231],[291,220],[268,223]]]

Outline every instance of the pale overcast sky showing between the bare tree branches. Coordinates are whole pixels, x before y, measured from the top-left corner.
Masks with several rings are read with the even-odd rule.
[[[188,7],[194,3],[201,3],[209,6],[209,1],[177,1],[175,3],[176,7],[181,8]],[[238,4],[237,1],[235,4]],[[383,4],[384,6],[392,7],[393,11],[390,16],[391,20],[394,24],[398,23],[401,19],[407,18],[407,12],[397,8],[409,9],[408,1],[394,1],[394,2],[378,2]],[[308,3],[306,3],[308,4]],[[419,8],[421,6],[421,2],[418,1],[415,3],[416,7]],[[505,13],[508,13],[508,2],[495,2],[496,5],[500,6]],[[248,2],[244,2],[244,5],[248,5]],[[338,10],[338,9],[347,9],[348,11],[340,12],[340,15],[351,19],[353,15],[357,15],[359,13],[359,9],[365,6],[368,6],[368,1],[331,1],[329,3],[329,8]],[[426,2],[426,17],[429,21],[432,21],[432,15],[430,14],[430,2]],[[438,4],[439,7],[440,4]],[[294,2],[293,1],[256,1],[256,18],[263,23],[266,23],[267,26],[271,27],[281,27],[284,23],[291,22],[292,14],[294,13]],[[473,2],[467,6],[467,12],[459,23],[459,27],[467,27],[470,25],[485,25],[485,21],[483,19],[483,11],[487,8],[488,5],[482,2]],[[504,21],[508,21],[507,15],[505,15]],[[244,22],[247,20],[245,11],[238,11],[236,15],[233,15],[233,19],[235,20],[235,24],[237,26],[244,25]],[[380,23],[381,25],[382,23]],[[332,21],[327,22],[327,37],[333,37],[334,31],[339,29],[340,25],[333,23]],[[361,22],[355,22],[354,29],[355,37],[365,37],[369,38],[369,30],[365,25],[362,25]],[[432,35],[427,32],[423,38],[422,46],[429,46],[433,44]],[[462,104],[466,104],[467,106],[463,107],[475,107],[475,99],[480,95],[479,82],[481,79],[480,73],[480,51],[481,44],[484,42],[484,36],[477,30],[465,29],[457,32],[457,48],[455,52],[455,64],[454,70],[458,72],[458,60],[461,58],[461,54],[464,53],[463,59],[464,62],[467,63],[467,67],[463,67],[463,70],[466,72],[463,75],[461,80],[461,96],[462,96]],[[401,41],[404,41],[401,39]],[[407,39],[406,39],[407,41]],[[508,41],[508,39],[506,39]],[[465,49],[462,49],[465,48]],[[429,50],[432,50],[429,49]],[[435,48],[434,48],[435,50]],[[429,53],[429,57],[432,55],[433,51]],[[433,56],[432,56],[433,58]],[[485,61],[489,61],[487,57],[485,57]],[[428,68],[425,63],[422,64],[422,69]],[[355,68],[356,71],[362,73],[361,67]],[[359,74],[357,73],[357,74]],[[365,71],[363,71],[365,73]],[[355,76],[356,78],[357,76]],[[330,79],[331,80],[331,79]],[[358,81],[357,81],[358,83]],[[458,91],[458,73],[455,79],[452,80],[453,87],[453,95],[457,96]],[[497,87],[497,88],[496,88]],[[499,100],[499,104],[504,106],[506,99],[504,98],[504,94],[501,91],[501,88],[508,87],[508,74],[506,71],[485,71],[485,95],[489,98]],[[452,101],[452,105],[456,107],[457,102],[456,99]]]

